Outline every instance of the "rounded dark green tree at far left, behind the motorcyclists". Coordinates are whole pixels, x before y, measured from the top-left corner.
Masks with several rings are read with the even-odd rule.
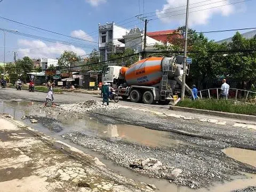
[[[23,57],[16,62],[17,72],[25,76],[31,72],[33,66],[33,61],[29,57]]]

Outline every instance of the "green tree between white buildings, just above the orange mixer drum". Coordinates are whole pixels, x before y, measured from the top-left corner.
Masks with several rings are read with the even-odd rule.
[[[134,50],[127,48],[124,50],[123,53],[110,54],[109,60],[113,60],[111,62],[117,63],[117,65],[119,66],[129,67],[130,65],[132,65],[133,63],[139,60],[139,55],[138,54],[132,55],[134,53],[135,53]],[[128,55],[132,55],[132,56],[126,57]],[[125,58],[122,58],[122,57],[125,57]],[[122,59],[118,59],[118,58],[122,58]]]

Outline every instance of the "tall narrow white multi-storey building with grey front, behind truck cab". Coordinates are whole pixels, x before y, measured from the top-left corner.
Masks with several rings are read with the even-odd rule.
[[[118,39],[128,32],[129,30],[115,25],[114,22],[105,25],[99,24],[100,61],[107,61],[109,54],[124,49],[125,45],[119,42]]]

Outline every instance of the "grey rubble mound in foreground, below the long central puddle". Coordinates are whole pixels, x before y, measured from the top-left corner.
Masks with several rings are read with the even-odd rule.
[[[230,181],[231,175],[246,169],[246,166],[233,162],[218,150],[182,145],[168,149],[153,148],[114,139],[89,137],[81,132],[67,133],[64,138],[98,151],[116,164],[140,174],[170,180],[193,189],[207,187],[214,181]]]

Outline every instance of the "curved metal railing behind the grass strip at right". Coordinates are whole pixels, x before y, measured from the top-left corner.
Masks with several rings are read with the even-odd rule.
[[[228,99],[256,105],[256,92],[250,90],[213,88],[198,91],[198,97],[201,99]]]

